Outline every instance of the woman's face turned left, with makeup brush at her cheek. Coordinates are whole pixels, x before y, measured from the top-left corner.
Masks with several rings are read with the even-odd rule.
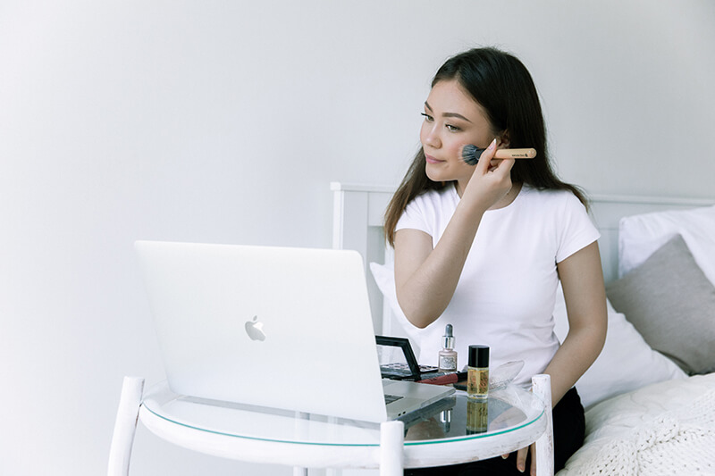
[[[456,79],[433,86],[423,115],[425,121],[419,137],[425,150],[427,177],[436,182],[457,180],[461,192],[475,171],[474,166],[462,160],[462,146],[489,146],[494,138],[492,124],[482,106]]]

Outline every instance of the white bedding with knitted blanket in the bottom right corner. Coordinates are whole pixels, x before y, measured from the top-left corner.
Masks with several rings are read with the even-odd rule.
[[[594,405],[586,434],[558,476],[715,475],[715,374]]]

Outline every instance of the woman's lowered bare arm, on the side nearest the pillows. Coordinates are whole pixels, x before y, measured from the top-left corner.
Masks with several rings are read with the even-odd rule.
[[[601,353],[608,313],[598,243],[557,264],[564,289],[568,335],[544,373],[551,375],[551,399],[556,405]]]

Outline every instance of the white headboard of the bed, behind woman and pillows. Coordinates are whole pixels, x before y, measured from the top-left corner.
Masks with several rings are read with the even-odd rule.
[[[332,182],[332,247],[354,249],[365,259],[368,291],[376,330],[389,333],[390,320],[383,322],[389,309],[374,283],[369,263],[384,263],[383,215],[394,187]],[[629,215],[662,210],[713,205],[712,200],[655,196],[589,196],[593,221],[601,231],[599,248],[603,277],[608,282],[618,277],[618,221]]]

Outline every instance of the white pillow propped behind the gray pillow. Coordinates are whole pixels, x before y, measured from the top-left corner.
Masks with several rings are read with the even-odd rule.
[[[715,285],[715,205],[621,218],[618,224],[618,277],[641,263],[675,235],[686,245]]]

